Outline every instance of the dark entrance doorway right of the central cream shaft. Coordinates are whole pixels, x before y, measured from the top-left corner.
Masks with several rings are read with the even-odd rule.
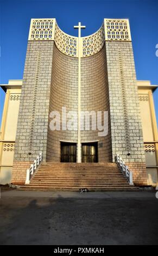
[[[82,143],[82,162],[97,163],[98,162],[98,143]]]

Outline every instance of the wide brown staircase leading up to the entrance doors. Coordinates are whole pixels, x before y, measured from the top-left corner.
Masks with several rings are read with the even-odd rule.
[[[133,190],[116,163],[41,163],[22,190]]]

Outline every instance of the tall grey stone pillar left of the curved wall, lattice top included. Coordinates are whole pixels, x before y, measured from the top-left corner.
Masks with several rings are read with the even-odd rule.
[[[16,184],[24,183],[40,152],[46,161],[54,26],[54,19],[31,20],[12,170]]]

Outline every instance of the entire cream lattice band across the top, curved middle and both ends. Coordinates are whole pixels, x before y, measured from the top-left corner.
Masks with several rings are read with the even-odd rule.
[[[104,19],[97,32],[80,39],[63,32],[55,19],[31,19],[28,40],[54,40],[68,56],[78,57],[80,51],[80,57],[89,57],[102,49],[104,41],[131,41],[131,35],[128,19]]]

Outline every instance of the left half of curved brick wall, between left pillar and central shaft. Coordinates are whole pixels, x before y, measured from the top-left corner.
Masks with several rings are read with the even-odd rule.
[[[49,113],[66,107],[78,111],[78,58],[53,50]],[[49,117],[49,124],[52,118]],[[48,127],[47,161],[60,162],[60,141],[77,142],[77,131],[51,131]]]

